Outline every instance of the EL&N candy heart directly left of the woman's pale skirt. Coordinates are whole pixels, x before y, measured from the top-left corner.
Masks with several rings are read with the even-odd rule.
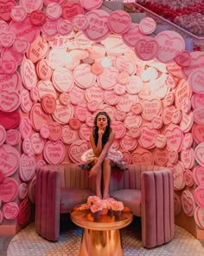
[[[74,141],[69,147],[69,157],[75,163],[81,163],[81,155],[90,148],[89,143],[83,140]]]

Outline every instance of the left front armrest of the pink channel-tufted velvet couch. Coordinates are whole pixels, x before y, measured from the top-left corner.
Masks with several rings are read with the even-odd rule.
[[[47,240],[60,236],[61,175],[54,169],[36,172],[35,230]]]

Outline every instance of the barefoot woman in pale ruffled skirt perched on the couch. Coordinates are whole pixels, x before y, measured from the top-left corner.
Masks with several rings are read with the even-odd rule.
[[[81,159],[91,162],[89,177],[96,176],[96,195],[99,198],[102,198],[100,185],[103,175],[103,199],[109,197],[111,167],[116,164],[123,170],[126,169],[123,154],[112,148],[114,140],[115,133],[111,128],[111,118],[106,112],[99,112],[94,119],[94,126],[90,135],[92,149],[86,151]]]

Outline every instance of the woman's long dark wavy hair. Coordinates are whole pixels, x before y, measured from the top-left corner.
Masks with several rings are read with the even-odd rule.
[[[105,115],[106,118],[107,118],[107,127],[105,129],[105,133],[102,137],[102,147],[104,148],[105,146],[105,143],[108,141],[109,139],[109,136],[112,132],[112,128],[111,128],[111,118],[110,116],[106,113],[106,112],[99,112],[96,116],[95,116],[95,119],[94,119],[94,127],[92,128],[92,135],[93,135],[93,138],[94,138],[94,142],[95,142],[95,145],[97,146],[97,143],[99,141],[99,135],[98,135],[98,131],[99,131],[99,127],[97,126],[97,118],[99,115]]]

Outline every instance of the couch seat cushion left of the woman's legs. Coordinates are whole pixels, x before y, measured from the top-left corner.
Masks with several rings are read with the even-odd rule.
[[[69,213],[73,207],[86,203],[94,195],[90,189],[61,187],[61,213]]]

